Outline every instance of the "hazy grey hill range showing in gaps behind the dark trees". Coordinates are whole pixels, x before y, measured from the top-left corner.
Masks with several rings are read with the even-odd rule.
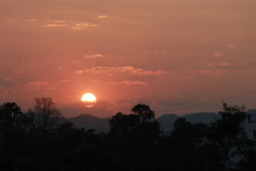
[[[255,114],[255,109],[250,109],[247,113]],[[191,123],[205,123],[210,124],[218,119],[218,113],[191,113],[188,115],[182,115],[181,118],[186,118]],[[176,114],[164,114],[156,118],[156,120],[161,123],[161,127],[163,128],[164,132],[169,132],[173,128],[175,121],[179,118]],[[95,129],[97,133],[105,132],[107,133],[110,130],[109,121],[111,118],[98,118],[96,116],[90,114],[83,114],[78,115],[73,118],[68,118],[68,120],[72,121],[77,128],[85,128],[88,129]],[[256,117],[253,117],[252,120],[256,121]],[[245,122],[245,130],[252,130],[256,129],[256,123],[247,123]],[[249,137],[252,137],[252,133],[248,133]]]

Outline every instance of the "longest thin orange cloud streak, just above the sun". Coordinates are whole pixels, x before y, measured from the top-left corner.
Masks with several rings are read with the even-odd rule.
[[[168,74],[169,71],[164,70],[144,70],[142,68],[134,68],[133,66],[119,66],[119,67],[108,67],[108,66],[95,66],[88,68],[84,71],[75,71],[75,73],[95,73],[95,74],[106,74],[112,76],[117,73],[130,74],[130,75],[142,75],[142,76],[159,76]]]

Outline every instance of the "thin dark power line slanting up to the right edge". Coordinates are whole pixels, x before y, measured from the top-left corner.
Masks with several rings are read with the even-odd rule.
[[[196,108],[196,107],[200,107],[200,106],[203,106],[203,105],[209,105],[209,104],[212,104],[212,103],[218,103],[218,102],[221,102],[221,101],[224,101],[224,100],[230,100],[232,98],[239,98],[239,97],[242,97],[244,95],[249,95],[249,94],[252,94],[252,93],[256,93],[256,90],[250,91],[250,92],[247,92],[247,93],[242,93],[240,95],[234,95],[234,96],[232,96],[230,98],[223,98],[223,99],[214,100],[214,101],[211,101],[211,102],[208,102],[208,103],[202,103],[202,104],[198,104],[198,105],[190,105],[190,106],[187,106],[187,107],[176,108],[176,109],[172,109],[172,110],[158,111],[156,113],[167,113],[167,112],[172,112],[172,111],[176,111],[176,110],[183,110],[183,109],[188,109],[188,108]]]

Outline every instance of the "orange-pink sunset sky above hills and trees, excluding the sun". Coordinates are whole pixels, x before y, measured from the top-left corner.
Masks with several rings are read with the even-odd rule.
[[[216,112],[256,90],[255,0],[0,0],[0,103],[66,117]],[[97,103],[86,108],[84,93]],[[256,93],[225,100],[256,108]]]

